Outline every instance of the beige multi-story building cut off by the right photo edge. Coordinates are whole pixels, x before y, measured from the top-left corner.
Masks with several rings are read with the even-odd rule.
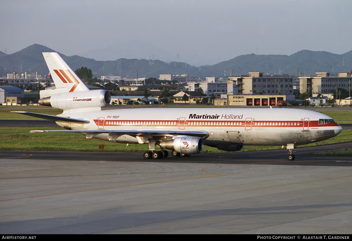
[[[314,94],[331,93],[331,90],[343,88],[351,89],[351,73],[339,73],[338,76],[330,76],[329,72],[317,72],[314,76],[299,77],[300,92]]]

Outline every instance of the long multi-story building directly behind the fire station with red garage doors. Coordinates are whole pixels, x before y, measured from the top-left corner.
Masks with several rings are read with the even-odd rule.
[[[289,76],[264,76],[262,72],[249,72],[249,76],[230,77],[238,86],[239,94],[293,95],[293,78]]]

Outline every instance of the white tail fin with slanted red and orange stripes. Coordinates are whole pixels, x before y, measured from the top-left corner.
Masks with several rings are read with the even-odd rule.
[[[65,61],[55,52],[43,52],[43,56],[48,65],[56,89],[59,92],[88,91],[88,87],[82,82],[77,74],[65,63]]]

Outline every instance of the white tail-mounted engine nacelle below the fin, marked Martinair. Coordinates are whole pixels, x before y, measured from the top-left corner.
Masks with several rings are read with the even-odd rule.
[[[39,99],[38,103],[60,110],[69,110],[106,106],[110,103],[110,99],[111,96],[107,90],[89,90],[56,93]]]

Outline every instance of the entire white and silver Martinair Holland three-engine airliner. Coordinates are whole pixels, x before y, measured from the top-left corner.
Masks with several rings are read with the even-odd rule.
[[[39,103],[63,110],[57,116],[14,111],[54,120],[67,130],[32,132],[78,132],[88,139],[117,143],[149,143],[144,158],[189,156],[203,145],[240,151],[244,145],[286,145],[294,160],[297,145],[322,141],[341,132],[332,118],[298,109],[137,108],[101,110],[110,103],[106,90],[89,90],[57,53],[43,53],[56,89],[40,91]],[[161,151],[156,151],[159,146]]]

